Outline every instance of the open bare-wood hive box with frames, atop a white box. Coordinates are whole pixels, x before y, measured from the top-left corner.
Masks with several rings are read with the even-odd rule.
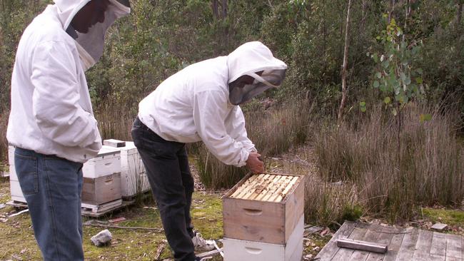
[[[285,245],[303,208],[304,176],[246,175],[223,197],[224,237]]]

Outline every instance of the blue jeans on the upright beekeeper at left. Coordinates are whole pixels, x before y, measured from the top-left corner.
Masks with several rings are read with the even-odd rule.
[[[16,148],[14,165],[44,260],[84,260],[82,163]]]

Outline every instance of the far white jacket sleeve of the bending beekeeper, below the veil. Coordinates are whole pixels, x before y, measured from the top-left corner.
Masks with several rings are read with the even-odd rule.
[[[243,148],[246,148],[250,153],[256,153],[255,145],[248,138],[245,128],[245,117],[239,106],[233,106],[231,113],[226,118],[226,131],[234,140],[242,143]]]

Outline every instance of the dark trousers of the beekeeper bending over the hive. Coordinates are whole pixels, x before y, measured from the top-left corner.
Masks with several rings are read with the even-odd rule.
[[[164,140],[138,118],[133,122],[131,135],[145,165],[174,258],[176,261],[195,260],[190,216],[193,178],[185,143]]]

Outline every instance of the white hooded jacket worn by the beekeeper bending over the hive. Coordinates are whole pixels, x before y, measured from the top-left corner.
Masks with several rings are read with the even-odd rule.
[[[138,118],[165,140],[203,140],[223,163],[241,167],[256,148],[237,104],[279,86],[286,68],[260,42],[243,44],[228,56],[194,63],[167,78],[139,103]],[[229,91],[228,83],[243,75],[256,80]]]

